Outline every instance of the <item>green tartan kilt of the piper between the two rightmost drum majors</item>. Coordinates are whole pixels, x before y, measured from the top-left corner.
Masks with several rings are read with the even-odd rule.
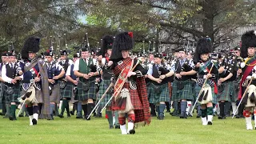
[[[218,88],[217,102],[227,101],[230,102],[230,91],[232,82],[222,82],[223,91]]]

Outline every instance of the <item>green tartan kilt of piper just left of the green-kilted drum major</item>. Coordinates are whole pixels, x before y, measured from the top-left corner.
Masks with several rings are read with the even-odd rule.
[[[194,100],[194,90],[192,88],[192,81],[190,79],[183,81],[184,88],[182,90],[178,90],[177,82],[174,80],[173,82],[173,90],[172,90],[172,101],[179,101],[182,99],[186,100]]]

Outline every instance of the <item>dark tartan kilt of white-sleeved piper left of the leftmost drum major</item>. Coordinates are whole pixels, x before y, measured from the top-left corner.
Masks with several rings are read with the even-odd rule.
[[[18,97],[20,96],[20,87],[19,86],[12,86],[14,88],[14,94],[7,94],[7,86],[3,86],[3,95],[5,96],[5,102],[6,104],[10,104],[10,102],[18,102]]]

